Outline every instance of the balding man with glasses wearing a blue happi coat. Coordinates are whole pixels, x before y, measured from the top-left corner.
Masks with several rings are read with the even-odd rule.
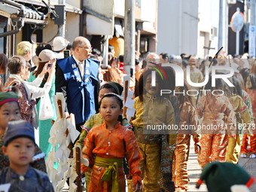
[[[92,47],[84,37],[75,38],[73,55],[58,59],[56,65],[56,92],[66,99],[66,117],[75,114],[75,124],[81,132],[81,125],[98,109],[99,62],[90,58]]]

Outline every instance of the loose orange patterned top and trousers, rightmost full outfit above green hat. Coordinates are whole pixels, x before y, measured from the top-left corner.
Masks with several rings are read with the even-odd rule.
[[[197,111],[203,117],[198,163],[203,168],[212,161],[224,162],[227,154],[227,130],[231,125],[236,126],[236,116],[229,99],[227,96],[212,96],[209,93],[200,98]]]

